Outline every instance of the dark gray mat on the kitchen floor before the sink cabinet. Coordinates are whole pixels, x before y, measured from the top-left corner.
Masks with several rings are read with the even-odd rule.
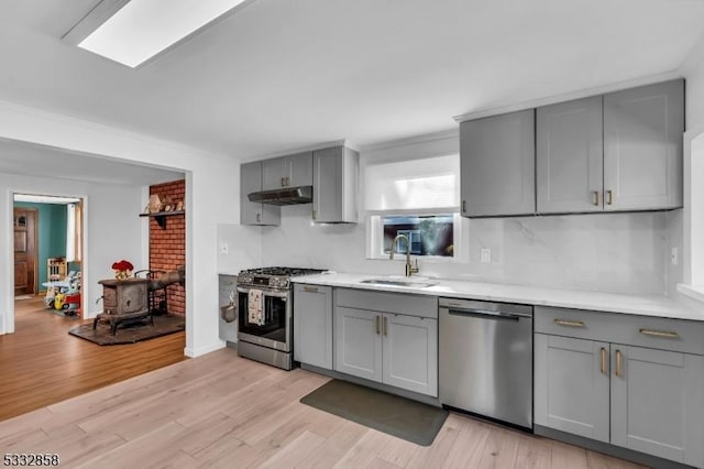
[[[448,411],[409,399],[332,380],[300,402],[417,445],[430,446]]]

